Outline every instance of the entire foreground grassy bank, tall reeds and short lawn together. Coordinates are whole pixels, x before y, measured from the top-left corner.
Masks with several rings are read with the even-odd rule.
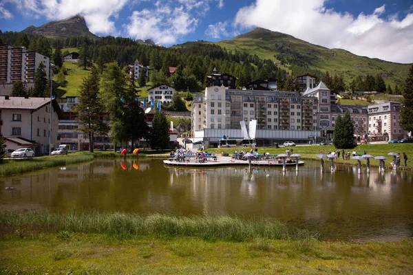
[[[74,212],[47,214],[1,211],[0,273],[413,272],[411,239],[355,243],[318,241],[306,234],[279,238],[278,235],[271,235],[279,226],[275,221],[246,221],[230,217],[180,218],[159,214],[146,218],[144,223],[149,226],[146,229],[151,230],[148,234],[142,219],[145,218],[119,213],[83,215]],[[251,228],[255,228],[255,233],[258,234],[249,234]],[[243,232],[247,234],[242,235]],[[226,236],[230,236],[230,239]],[[240,239],[238,236],[246,238]]]

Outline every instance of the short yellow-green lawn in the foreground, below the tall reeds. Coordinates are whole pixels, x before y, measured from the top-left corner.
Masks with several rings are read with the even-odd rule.
[[[1,274],[412,274],[413,241],[393,243],[108,239],[101,234],[12,232]]]

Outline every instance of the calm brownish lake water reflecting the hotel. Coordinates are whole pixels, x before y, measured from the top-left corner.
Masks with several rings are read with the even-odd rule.
[[[101,159],[0,179],[0,208],[273,217],[324,240],[413,236],[412,173],[306,162],[288,168],[169,168]],[[6,190],[11,186],[14,190]]]

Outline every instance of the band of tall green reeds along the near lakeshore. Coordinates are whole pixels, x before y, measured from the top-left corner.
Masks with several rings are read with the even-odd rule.
[[[171,238],[199,237],[204,240],[247,241],[264,239],[311,239],[317,234],[279,223],[274,219],[241,219],[239,217],[178,217],[166,214],[83,212],[54,214],[44,211],[0,212],[0,228],[31,232],[41,228],[49,232],[106,234],[116,239],[133,236]]]

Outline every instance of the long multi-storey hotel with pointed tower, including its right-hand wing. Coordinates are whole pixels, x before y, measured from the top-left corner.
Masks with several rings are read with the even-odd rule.
[[[207,87],[195,96],[191,126],[195,140],[217,146],[223,137],[243,139],[240,121],[257,120],[256,143],[320,142],[332,140],[335,120],[349,111],[358,140],[392,140],[407,132],[399,124],[400,104],[387,102],[371,106],[336,104],[334,93],[320,82],[304,93]]]

